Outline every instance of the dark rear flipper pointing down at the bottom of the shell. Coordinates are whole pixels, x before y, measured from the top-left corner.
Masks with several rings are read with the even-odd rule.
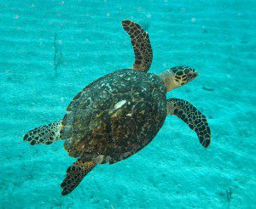
[[[66,178],[61,184],[63,189],[61,195],[71,193],[95,166],[96,164],[93,161],[83,161],[81,158],[75,161],[71,167],[67,168]]]

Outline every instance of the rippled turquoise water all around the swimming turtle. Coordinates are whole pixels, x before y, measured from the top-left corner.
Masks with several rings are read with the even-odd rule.
[[[255,8],[253,0],[0,0],[0,207],[255,207]],[[147,28],[150,72],[175,65],[199,72],[168,98],[189,100],[207,116],[212,144],[203,149],[183,121],[168,116],[137,155],[96,167],[61,196],[74,161],[63,141],[32,147],[22,136],[61,119],[96,78],[131,67],[124,19]]]

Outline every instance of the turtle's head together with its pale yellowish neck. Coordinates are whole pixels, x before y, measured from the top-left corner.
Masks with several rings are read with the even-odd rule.
[[[166,83],[167,92],[191,82],[197,76],[197,71],[188,66],[172,67],[160,74],[160,78]]]

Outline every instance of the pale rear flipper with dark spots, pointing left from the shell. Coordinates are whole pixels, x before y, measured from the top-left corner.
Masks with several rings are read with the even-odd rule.
[[[42,127],[36,127],[26,133],[23,137],[24,141],[34,144],[52,144],[61,138],[62,120],[55,121]]]

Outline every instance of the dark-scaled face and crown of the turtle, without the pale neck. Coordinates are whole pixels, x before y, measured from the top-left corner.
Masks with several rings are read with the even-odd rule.
[[[198,76],[198,73],[195,71],[195,69],[188,66],[176,66],[172,67],[168,71],[172,71],[174,73],[173,79],[177,87],[183,86]]]

